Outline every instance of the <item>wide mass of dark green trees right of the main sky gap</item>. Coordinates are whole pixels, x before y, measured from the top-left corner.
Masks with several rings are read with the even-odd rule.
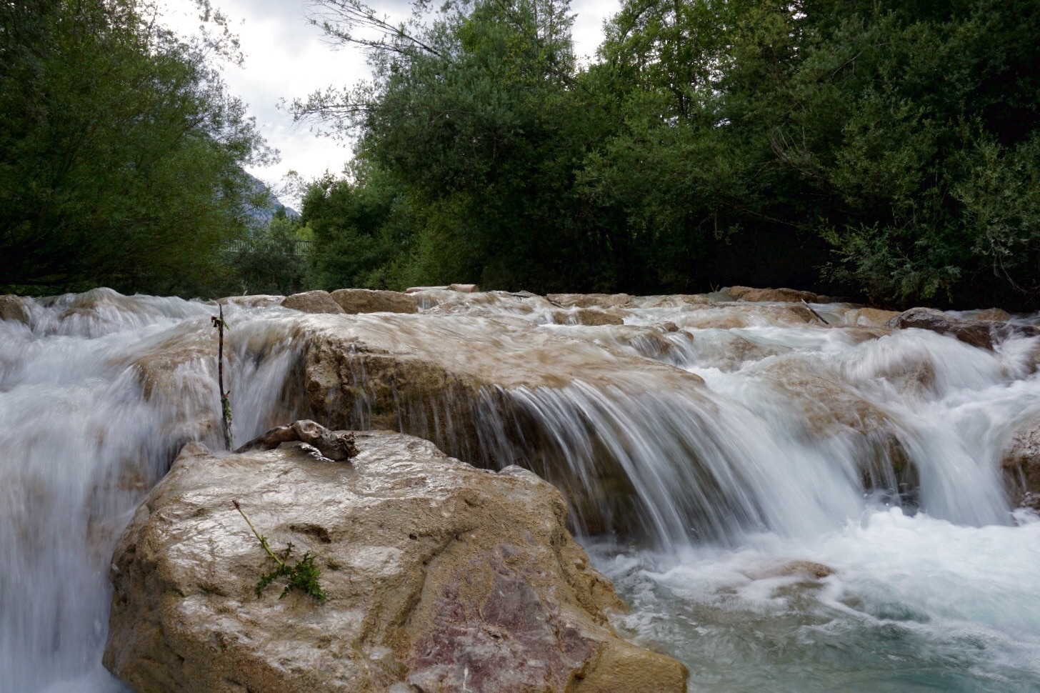
[[[566,2],[320,5],[375,69],[295,104],[356,143],[321,285],[1040,289],[1036,1],[626,0],[586,68]]]

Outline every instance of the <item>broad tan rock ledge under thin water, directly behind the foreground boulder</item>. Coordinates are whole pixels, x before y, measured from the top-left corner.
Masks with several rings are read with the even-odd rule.
[[[421,314],[312,315],[301,327],[310,335],[305,388],[312,418],[338,429],[404,430],[482,466],[498,464],[488,457],[478,419],[491,412],[511,419],[517,413],[511,390],[580,381],[644,391],[652,378],[662,391],[691,392],[704,382],[664,363],[531,329],[520,318],[472,316],[461,326]]]

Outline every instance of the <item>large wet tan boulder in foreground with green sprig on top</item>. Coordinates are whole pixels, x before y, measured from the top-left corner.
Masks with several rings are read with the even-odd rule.
[[[680,663],[610,627],[624,605],[555,488],[407,435],[357,444],[187,445],[115,549],[105,666],[149,692],[685,691]],[[232,500],[275,550],[316,557],[327,601],[280,599],[284,579],[256,596],[274,562]]]

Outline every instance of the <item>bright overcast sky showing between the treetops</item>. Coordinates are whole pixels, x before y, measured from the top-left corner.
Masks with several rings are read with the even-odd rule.
[[[296,171],[306,180],[327,170],[339,173],[350,156],[345,143],[312,134],[307,125],[293,125],[292,118],[278,108],[282,99],[306,97],[329,85],[352,85],[368,76],[365,57],[356,48],[334,49],[320,30],[307,23],[305,0],[214,0],[231,18],[242,43],[245,61],[241,68],[227,66],[225,79],[232,94],[249,104],[267,143],[281,152],[281,161],[271,166],[250,169],[257,178],[278,187],[285,175]],[[372,2],[378,10],[407,17],[408,2]],[[619,0],[572,0],[577,15],[574,23],[575,52],[590,56],[602,40],[603,20],[616,11]],[[167,0],[166,23],[184,32],[199,24],[194,3]],[[283,196],[289,206],[298,206],[291,195]]]

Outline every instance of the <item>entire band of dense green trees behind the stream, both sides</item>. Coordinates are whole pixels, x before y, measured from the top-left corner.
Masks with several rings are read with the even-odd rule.
[[[196,4],[190,41],[149,0],[0,4],[0,288],[1040,292],[1040,0],[624,0],[587,66],[566,0],[315,0],[373,78],[293,109],[355,159],[262,229]]]

